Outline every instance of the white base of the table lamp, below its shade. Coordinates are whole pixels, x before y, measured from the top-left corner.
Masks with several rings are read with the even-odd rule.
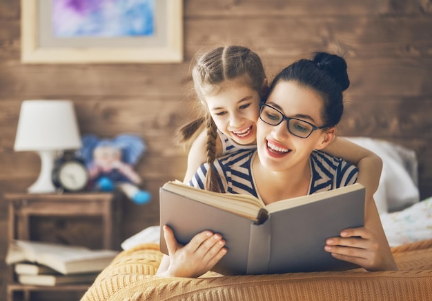
[[[41,157],[41,173],[36,182],[28,187],[29,194],[46,194],[56,191],[56,187],[52,183],[52,169],[54,168],[54,160],[57,151],[46,150],[39,151]]]

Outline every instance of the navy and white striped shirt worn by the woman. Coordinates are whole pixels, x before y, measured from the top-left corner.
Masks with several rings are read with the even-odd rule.
[[[249,149],[215,160],[214,168],[219,176],[219,187],[222,187],[222,192],[249,194],[259,198],[251,170],[255,154],[255,149]],[[341,158],[319,151],[313,151],[310,158],[312,177],[309,194],[352,185],[357,181],[357,167]],[[207,170],[207,163],[201,165],[189,185],[204,189]]]

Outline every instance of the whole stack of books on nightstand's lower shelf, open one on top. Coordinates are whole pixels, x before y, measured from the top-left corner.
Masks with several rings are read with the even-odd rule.
[[[14,240],[6,255],[21,284],[55,286],[92,283],[118,251]]]

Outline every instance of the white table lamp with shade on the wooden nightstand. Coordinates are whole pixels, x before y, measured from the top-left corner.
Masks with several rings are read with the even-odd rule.
[[[72,101],[23,101],[14,150],[34,151],[41,157],[41,173],[29,193],[54,192],[52,169],[57,153],[79,148],[81,136]]]

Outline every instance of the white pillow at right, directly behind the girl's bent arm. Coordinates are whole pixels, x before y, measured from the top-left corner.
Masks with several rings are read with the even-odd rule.
[[[344,137],[382,158],[380,185],[373,195],[380,214],[400,211],[420,201],[418,162],[412,149],[366,137]]]

